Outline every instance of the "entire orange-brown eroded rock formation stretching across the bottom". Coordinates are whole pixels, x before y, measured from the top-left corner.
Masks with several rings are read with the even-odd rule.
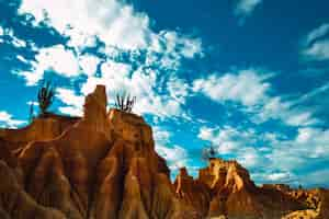
[[[0,130],[1,219],[276,219],[307,208],[328,216],[326,191],[257,187],[235,161],[213,159],[197,180],[185,169],[174,184],[169,175],[151,128],[107,113],[104,87],[86,97],[81,118],[48,114]]]

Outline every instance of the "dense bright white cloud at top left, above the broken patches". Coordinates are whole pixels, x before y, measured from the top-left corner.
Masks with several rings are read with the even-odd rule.
[[[33,14],[37,23],[46,19],[60,34],[69,36],[69,45],[76,48],[94,44],[94,36],[98,36],[106,46],[151,47],[157,51],[162,38],[161,34],[151,31],[147,14],[136,12],[132,5],[118,0],[24,0],[20,12]],[[174,44],[183,44],[183,56],[191,58],[200,53],[200,41],[178,35],[174,38],[175,32],[168,33],[171,34],[168,44],[172,38]]]

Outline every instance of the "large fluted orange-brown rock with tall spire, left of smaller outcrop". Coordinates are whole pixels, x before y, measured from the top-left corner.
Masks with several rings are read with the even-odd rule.
[[[1,131],[0,174],[10,174],[0,183],[3,218],[191,218],[151,128],[137,115],[107,113],[104,87],[86,97],[82,118],[68,120],[48,116]]]

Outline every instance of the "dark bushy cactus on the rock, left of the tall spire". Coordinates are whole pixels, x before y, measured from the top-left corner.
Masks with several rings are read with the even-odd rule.
[[[44,82],[42,88],[37,92],[37,102],[41,116],[44,116],[47,113],[47,110],[54,102],[54,96],[55,88],[49,81]]]

